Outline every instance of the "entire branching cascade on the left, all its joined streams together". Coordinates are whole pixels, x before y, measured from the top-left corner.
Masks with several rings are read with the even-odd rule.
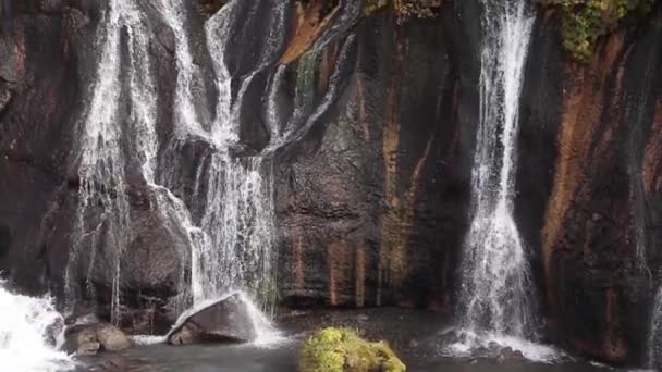
[[[70,309],[82,290],[95,299],[98,266],[109,268],[111,321],[115,324],[121,317],[121,259],[134,238],[126,191],[128,172],[136,166],[154,197],[159,221],[187,245],[182,255],[191,255],[191,287],[184,290],[184,297],[191,295],[195,306],[245,290],[267,308],[275,294],[270,255],[271,163],[260,157],[238,159],[232,154],[238,146],[240,102],[232,102],[231,76],[223,54],[232,5],[228,4],[207,26],[219,91],[211,123],[204,122],[197,110],[196,94],[204,92],[204,84],[191,49],[185,2],[162,1],[159,10],[175,36],[174,135],[169,146],[159,154],[157,89],[148,54],[154,32],[137,1],[112,0],[103,13],[91,99],[77,133],[78,207],[65,295]],[[122,94],[123,82],[128,85],[126,95]],[[169,177],[170,169],[179,165],[159,164],[157,158],[177,160],[182,146],[200,139],[211,152],[197,165],[195,195],[189,197],[199,200],[187,206],[170,189],[174,183]],[[195,207],[199,211],[189,209]],[[82,253],[88,260],[84,289],[78,288],[77,280]],[[182,283],[186,276],[182,272]]]

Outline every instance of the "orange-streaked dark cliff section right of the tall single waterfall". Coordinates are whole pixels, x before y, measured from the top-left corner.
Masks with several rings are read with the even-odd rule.
[[[643,357],[659,281],[661,15],[603,40],[590,65],[556,67],[541,240],[549,311],[575,348],[614,361]]]

